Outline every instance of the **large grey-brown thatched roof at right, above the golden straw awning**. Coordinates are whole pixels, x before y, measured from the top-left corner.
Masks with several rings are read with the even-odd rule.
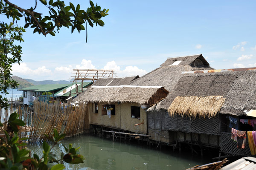
[[[183,74],[174,90],[153,109],[168,110],[177,96],[223,96],[220,113],[243,115],[256,109],[256,70]]]

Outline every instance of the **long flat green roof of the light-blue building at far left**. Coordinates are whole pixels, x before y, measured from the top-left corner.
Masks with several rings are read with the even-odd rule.
[[[19,89],[20,91],[34,91],[34,92],[49,92],[63,89],[70,84],[55,84],[55,85],[34,85],[27,88]]]

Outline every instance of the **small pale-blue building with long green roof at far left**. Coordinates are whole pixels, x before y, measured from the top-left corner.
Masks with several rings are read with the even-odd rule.
[[[44,92],[51,92],[53,95],[66,88],[69,84],[55,84],[55,85],[34,85],[27,88],[18,89],[23,91],[23,104],[33,105],[33,100],[38,96],[42,95]],[[33,99],[33,96],[35,97]]]

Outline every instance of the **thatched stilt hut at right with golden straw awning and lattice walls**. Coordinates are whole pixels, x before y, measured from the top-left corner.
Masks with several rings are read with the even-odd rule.
[[[199,73],[198,73],[199,72]],[[246,111],[256,109],[256,70],[190,71],[177,82],[174,92],[160,104],[168,108],[161,127],[169,131],[170,143],[196,144],[220,148],[223,153],[251,155],[248,141],[238,148],[231,139],[231,127],[256,130],[239,120],[253,120]],[[160,107],[150,108],[156,114]],[[231,122],[230,120],[237,120]],[[253,122],[252,121],[252,122]]]

